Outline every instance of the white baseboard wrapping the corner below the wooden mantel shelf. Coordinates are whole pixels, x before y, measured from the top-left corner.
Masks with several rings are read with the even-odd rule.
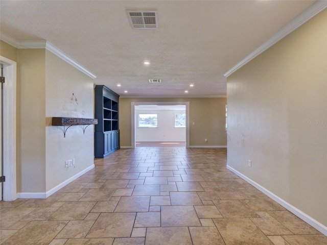
[[[21,199],[45,199],[45,198],[48,198],[48,197],[50,197],[50,195],[52,195],[56,191],[60,190],[62,187],[68,185],[72,181],[76,180],[78,177],[84,175],[87,171],[91,170],[94,167],[95,167],[94,164],[90,165],[89,167],[80,171],[78,174],[65,180],[64,182],[60,183],[59,185],[55,186],[54,188],[52,188],[51,190],[48,190],[46,192],[19,192],[19,193],[17,193],[17,196],[18,196],[18,198],[21,198]]]

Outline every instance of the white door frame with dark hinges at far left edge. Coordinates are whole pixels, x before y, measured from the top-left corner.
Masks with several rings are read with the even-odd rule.
[[[0,56],[4,64],[4,201],[17,199],[16,154],[17,154],[17,63]]]

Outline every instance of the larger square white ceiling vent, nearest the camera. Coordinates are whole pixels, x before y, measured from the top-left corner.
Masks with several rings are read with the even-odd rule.
[[[157,11],[127,10],[127,14],[133,29],[158,29]]]

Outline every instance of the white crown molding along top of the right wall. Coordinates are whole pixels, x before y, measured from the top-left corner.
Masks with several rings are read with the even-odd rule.
[[[296,16],[293,20],[288,22],[285,27],[283,27],[281,30],[276,32],[271,38],[269,38],[267,41],[265,41],[261,46],[256,48],[251,54],[249,54],[245,59],[243,59],[240,63],[238,63],[236,66],[229,69],[224,76],[227,78],[230,76],[233,72],[240,69],[242,66],[244,66],[246,63],[254,59],[256,56],[260,55],[264,51],[266,51],[269,47],[274,45],[276,42],[293,32],[295,29],[300,27],[303,23],[307,22],[309,19],[317,15],[319,12],[324,10],[327,7],[327,1],[325,0],[319,0],[313,5],[311,5],[308,9],[300,13],[298,16]]]

